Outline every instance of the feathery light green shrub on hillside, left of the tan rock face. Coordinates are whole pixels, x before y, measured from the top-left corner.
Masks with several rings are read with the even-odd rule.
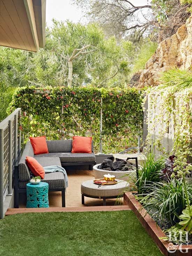
[[[152,57],[156,49],[157,43],[152,41],[144,42],[141,45],[138,57],[135,58],[133,63],[132,74],[144,69],[146,62]]]

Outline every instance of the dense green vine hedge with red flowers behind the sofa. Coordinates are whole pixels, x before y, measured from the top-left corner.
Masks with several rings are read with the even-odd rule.
[[[60,139],[90,135],[96,147],[102,108],[104,151],[136,146],[142,126],[142,95],[134,88],[21,87],[13,95],[8,112],[17,107],[24,113],[20,128],[26,137],[45,134],[49,139]]]

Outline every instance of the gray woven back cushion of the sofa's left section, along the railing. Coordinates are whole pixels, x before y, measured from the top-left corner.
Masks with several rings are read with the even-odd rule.
[[[34,151],[30,142],[27,142],[25,148],[23,150],[21,159],[19,161],[19,180],[20,181],[28,181],[30,180],[30,171],[25,163],[26,156],[34,157]]]

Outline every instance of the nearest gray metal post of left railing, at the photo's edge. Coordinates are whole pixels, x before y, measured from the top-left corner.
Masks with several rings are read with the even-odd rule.
[[[3,129],[0,129],[0,219],[3,219],[3,193],[4,193],[4,184],[3,184],[3,175],[4,175],[4,166],[3,166]]]

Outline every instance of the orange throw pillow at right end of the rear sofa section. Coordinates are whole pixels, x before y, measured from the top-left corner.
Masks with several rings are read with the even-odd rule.
[[[73,136],[72,153],[92,153],[92,137]]]

